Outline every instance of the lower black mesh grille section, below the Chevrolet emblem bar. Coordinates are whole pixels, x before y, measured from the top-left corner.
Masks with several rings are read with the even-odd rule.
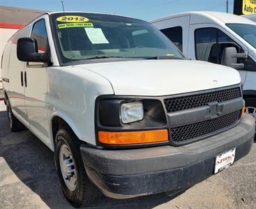
[[[232,127],[241,118],[241,111],[234,111],[225,116],[220,116],[208,121],[193,123],[171,128],[171,140],[175,143],[186,143],[198,139],[208,137],[209,134],[215,134],[227,127]]]

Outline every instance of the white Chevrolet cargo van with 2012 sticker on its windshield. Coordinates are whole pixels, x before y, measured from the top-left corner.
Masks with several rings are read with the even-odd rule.
[[[46,13],[3,52],[13,131],[52,151],[73,206],[186,189],[245,156],[255,134],[232,68],[184,59],[148,22]]]

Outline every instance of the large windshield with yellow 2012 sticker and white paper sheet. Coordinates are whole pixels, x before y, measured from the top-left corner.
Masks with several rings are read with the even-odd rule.
[[[61,63],[111,59],[150,59],[183,54],[152,24],[116,15],[55,13],[52,33]]]

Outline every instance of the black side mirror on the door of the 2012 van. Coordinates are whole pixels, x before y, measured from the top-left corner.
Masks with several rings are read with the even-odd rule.
[[[48,53],[38,53],[38,44],[33,38],[20,38],[17,40],[17,59],[23,62],[49,61]]]

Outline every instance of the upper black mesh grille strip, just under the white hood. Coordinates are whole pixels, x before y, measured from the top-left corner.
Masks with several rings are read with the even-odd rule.
[[[209,102],[224,102],[234,100],[241,97],[239,87],[229,88],[221,91],[213,91],[208,93],[200,93],[195,95],[187,95],[177,98],[165,99],[165,107],[167,112],[181,111],[185,109],[201,107]]]

